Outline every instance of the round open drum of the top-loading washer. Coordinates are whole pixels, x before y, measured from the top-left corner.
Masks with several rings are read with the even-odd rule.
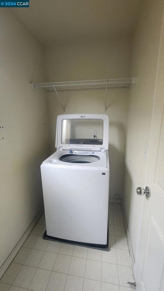
[[[97,162],[100,159],[98,156],[85,156],[85,155],[63,155],[60,161],[65,163],[86,164]]]

